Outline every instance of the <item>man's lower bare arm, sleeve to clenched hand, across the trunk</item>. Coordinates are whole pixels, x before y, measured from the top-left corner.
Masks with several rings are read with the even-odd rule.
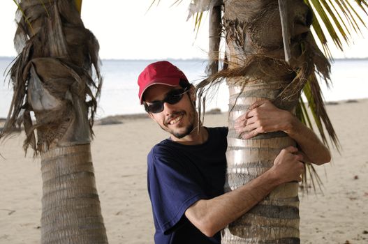
[[[271,169],[253,181],[219,197],[196,201],[186,210],[186,218],[206,236],[214,236],[264,199],[277,185],[302,181],[302,155],[293,153],[297,153],[297,148],[289,146],[279,153]]]

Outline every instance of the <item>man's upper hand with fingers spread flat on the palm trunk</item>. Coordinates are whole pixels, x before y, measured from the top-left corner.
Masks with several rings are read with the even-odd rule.
[[[235,120],[234,128],[243,139],[260,133],[291,130],[295,117],[290,112],[275,107],[269,100],[259,100],[249,107],[249,112]]]

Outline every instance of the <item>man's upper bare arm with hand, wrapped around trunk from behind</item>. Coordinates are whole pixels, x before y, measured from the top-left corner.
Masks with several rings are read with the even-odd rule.
[[[236,119],[234,127],[243,139],[265,132],[284,131],[295,139],[307,162],[322,165],[331,160],[330,151],[312,130],[290,112],[275,107],[269,100],[254,102],[249,112]]]

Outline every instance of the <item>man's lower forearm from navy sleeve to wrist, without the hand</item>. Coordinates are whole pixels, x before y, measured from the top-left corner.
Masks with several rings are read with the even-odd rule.
[[[279,183],[272,170],[268,170],[236,190],[197,201],[186,211],[186,218],[206,236],[213,236],[264,199]]]

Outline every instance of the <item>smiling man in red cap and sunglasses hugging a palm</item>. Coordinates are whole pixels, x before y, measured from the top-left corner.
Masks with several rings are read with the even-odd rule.
[[[224,194],[228,129],[198,123],[196,94],[184,73],[168,61],[151,63],[138,77],[138,85],[140,103],[149,117],[170,133],[147,157],[157,244],[221,243],[219,231],[277,185],[301,181],[303,156],[318,164],[330,161],[327,148],[292,114],[267,100],[256,102],[237,119],[240,135],[251,138],[284,130],[302,151],[293,146],[283,149],[271,169]]]

